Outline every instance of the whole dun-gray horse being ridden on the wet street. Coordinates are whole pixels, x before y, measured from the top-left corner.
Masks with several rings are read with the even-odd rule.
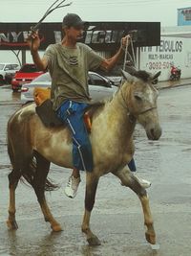
[[[145,237],[156,244],[156,234],[146,190],[132,175],[127,163],[133,157],[135,146],[133,134],[137,122],[145,129],[149,140],[161,135],[157,107],[158,90],[152,84],[159,77],[146,71],[123,71],[123,82],[112,99],[96,106],[92,116],[90,140],[94,155],[94,170],[86,172],[85,211],[81,230],[88,244],[100,244],[90,228],[91,212],[96,198],[99,178],[109,173],[120,179],[121,185],[129,187],[140,199]],[[94,106],[93,106],[94,107]],[[45,191],[55,188],[48,179],[50,164],[73,168],[72,133],[67,127],[47,128],[35,111],[35,104],[24,105],[8,122],[8,153],[12,170],[9,176],[10,205],[8,228],[17,229],[15,219],[15,189],[18,181],[32,185],[45,221],[53,231],[61,231],[61,225],[53,218],[45,198]]]

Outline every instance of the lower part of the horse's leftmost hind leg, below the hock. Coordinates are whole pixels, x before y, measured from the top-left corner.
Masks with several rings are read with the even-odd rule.
[[[9,177],[9,187],[10,187],[10,205],[9,205],[9,217],[7,221],[7,225],[9,229],[17,229],[18,225],[15,220],[15,190],[20,179],[20,171],[12,170]]]

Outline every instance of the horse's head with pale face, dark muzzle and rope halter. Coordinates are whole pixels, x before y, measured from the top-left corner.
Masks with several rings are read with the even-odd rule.
[[[121,96],[130,115],[145,128],[149,139],[158,140],[161,135],[157,109],[159,92],[153,82],[158,80],[160,72],[152,75],[146,71],[128,68],[128,73],[122,71],[122,74],[125,82],[120,89]]]

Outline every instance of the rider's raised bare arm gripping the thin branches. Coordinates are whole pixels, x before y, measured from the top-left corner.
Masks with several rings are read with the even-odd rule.
[[[39,70],[46,70],[48,66],[48,60],[46,58],[40,58],[38,54],[38,48],[40,46],[40,38],[37,32],[32,32],[32,35],[28,38],[28,44],[31,49],[32,59],[34,64]]]

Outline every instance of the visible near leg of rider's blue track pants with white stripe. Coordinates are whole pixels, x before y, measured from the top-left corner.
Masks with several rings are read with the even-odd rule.
[[[73,164],[81,171],[93,171],[93,153],[83,115],[87,104],[64,102],[56,111],[58,118],[66,123],[73,133]]]

